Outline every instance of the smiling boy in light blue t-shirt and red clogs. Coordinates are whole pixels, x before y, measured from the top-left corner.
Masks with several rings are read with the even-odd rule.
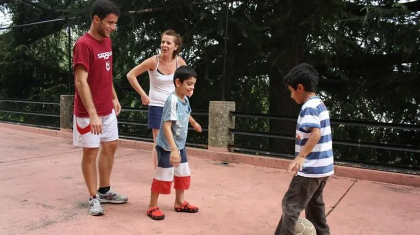
[[[159,194],[170,193],[172,181],[176,193],[175,211],[198,212],[198,207],[184,200],[184,190],[189,189],[191,177],[185,149],[188,123],[191,118],[191,107],[187,95],[194,90],[196,80],[197,73],[193,68],[185,65],[177,68],[173,76],[175,91],[168,96],[163,107],[156,142],[158,167],[152,182],[151,200],[147,210],[147,215],[154,220],[165,218],[158,207],[158,197]],[[196,128],[198,124],[194,123],[193,126],[196,131],[201,132],[201,128]]]

